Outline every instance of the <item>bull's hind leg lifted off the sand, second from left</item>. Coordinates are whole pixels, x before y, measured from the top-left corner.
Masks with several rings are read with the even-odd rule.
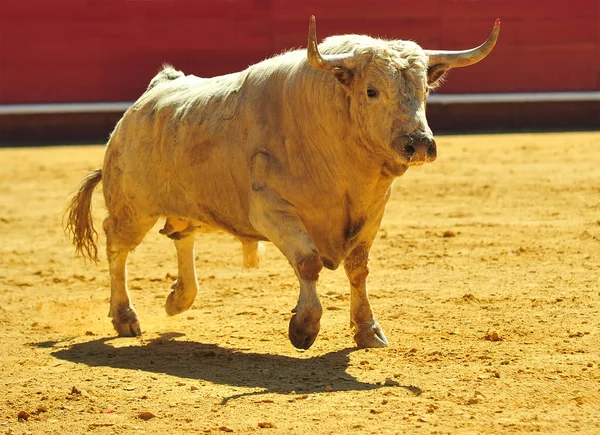
[[[171,287],[173,291],[167,297],[165,310],[169,316],[182,313],[194,303],[198,293],[198,278],[194,263],[194,241],[197,227],[188,221],[168,218],[160,230],[175,242],[177,250],[177,281]]]

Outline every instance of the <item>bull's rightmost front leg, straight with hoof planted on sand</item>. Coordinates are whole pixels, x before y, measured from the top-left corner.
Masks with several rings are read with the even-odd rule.
[[[385,347],[388,341],[371,310],[367,291],[369,249],[370,245],[359,245],[344,260],[350,281],[350,325],[359,347]]]

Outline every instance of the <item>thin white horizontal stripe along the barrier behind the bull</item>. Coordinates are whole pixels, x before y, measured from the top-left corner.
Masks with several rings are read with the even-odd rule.
[[[427,104],[554,103],[600,101],[600,92],[515,92],[504,94],[433,94]],[[0,104],[1,115],[124,112],[133,101],[99,103]]]

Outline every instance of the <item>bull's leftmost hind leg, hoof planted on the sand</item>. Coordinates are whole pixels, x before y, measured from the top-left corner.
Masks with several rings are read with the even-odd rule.
[[[104,220],[106,253],[110,272],[110,311],[112,323],[120,336],[142,334],[138,315],[127,289],[127,256],[138,246],[156,219],[132,219],[109,216]]]

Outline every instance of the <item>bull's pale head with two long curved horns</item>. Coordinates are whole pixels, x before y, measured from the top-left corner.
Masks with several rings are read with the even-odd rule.
[[[317,47],[310,19],[308,62],[328,71],[348,94],[352,124],[361,141],[383,155],[388,170],[432,162],[437,155],[425,117],[425,100],[450,68],[473,65],[494,48],[500,21],[479,47],[463,51],[423,50],[411,41],[336,36]]]

